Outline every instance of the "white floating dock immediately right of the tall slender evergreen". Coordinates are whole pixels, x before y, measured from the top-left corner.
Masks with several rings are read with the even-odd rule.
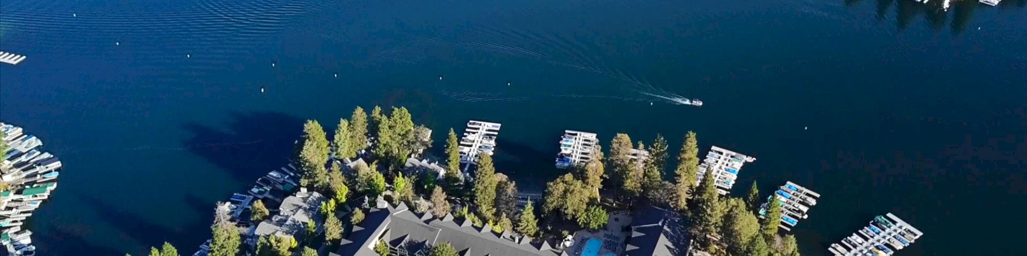
[[[734,186],[734,180],[738,178],[738,170],[746,163],[756,161],[756,158],[737,154],[714,145],[707,153],[707,158],[699,164],[698,172],[695,174],[695,183],[698,184],[706,177],[708,172],[712,172],[717,183],[717,190],[720,195],[727,195]]]

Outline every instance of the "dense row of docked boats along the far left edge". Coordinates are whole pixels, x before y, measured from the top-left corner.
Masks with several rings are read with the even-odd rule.
[[[23,229],[33,211],[58,187],[61,160],[40,151],[43,141],[22,127],[0,123],[7,152],[0,152],[0,245],[8,255],[35,255],[32,231]]]

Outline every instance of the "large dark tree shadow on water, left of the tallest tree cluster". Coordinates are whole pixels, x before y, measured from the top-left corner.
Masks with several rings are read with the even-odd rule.
[[[227,130],[190,123],[193,136],[183,144],[189,152],[228,171],[237,180],[252,182],[287,164],[294,142],[303,133],[303,120],[281,113],[232,113]],[[327,131],[331,133],[331,131]]]

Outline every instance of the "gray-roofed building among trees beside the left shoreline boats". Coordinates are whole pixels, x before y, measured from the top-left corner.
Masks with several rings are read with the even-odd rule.
[[[297,237],[305,232],[307,222],[314,221],[318,232],[325,223],[325,218],[318,213],[321,202],[328,201],[316,191],[308,193],[300,188],[295,196],[281,201],[278,214],[261,221],[254,229],[256,236]]]

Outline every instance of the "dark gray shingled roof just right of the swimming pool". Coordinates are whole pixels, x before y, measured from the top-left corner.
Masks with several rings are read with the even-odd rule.
[[[688,250],[685,217],[677,212],[649,206],[632,220],[632,237],[627,239],[627,256],[685,255]]]

